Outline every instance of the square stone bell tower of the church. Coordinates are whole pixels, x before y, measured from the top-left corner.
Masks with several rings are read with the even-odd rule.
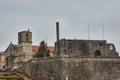
[[[18,33],[18,44],[24,61],[32,59],[32,32],[29,29]]]

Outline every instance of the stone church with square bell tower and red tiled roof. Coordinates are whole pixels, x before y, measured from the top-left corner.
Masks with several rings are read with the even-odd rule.
[[[50,55],[54,52],[53,46],[47,46]],[[5,68],[20,66],[33,58],[39,46],[32,45],[32,32],[28,29],[18,33],[18,44],[9,44],[5,50]]]

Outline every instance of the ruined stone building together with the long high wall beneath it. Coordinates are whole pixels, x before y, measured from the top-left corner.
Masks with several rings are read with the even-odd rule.
[[[58,54],[60,52],[60,54]],[[33,59],[22,66],[43,80],[119,80],[120,57],[105,40],[66,40],[55,43],[55,56]]]

